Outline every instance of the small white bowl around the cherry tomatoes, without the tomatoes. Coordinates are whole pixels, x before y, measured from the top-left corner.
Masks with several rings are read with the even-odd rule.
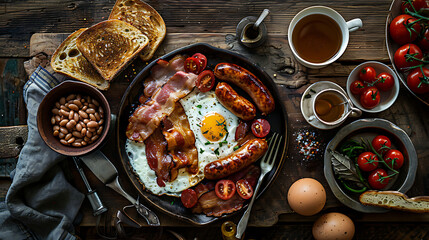
[[[361,69],[363,69],[364,67],[373,67],[377,73],[377,76],[378,76],[378,74],[380,74],[382,72],[387,72],[393,76],[393,79],[395,82],[395,84],[393,85],[393,88],[390,89],[389,91],[387,91],[387,92],[380,91],[380,104],[378,104],[376,107],[374,107],[372,109],[364,108],[362,106],[362,104],[360,103],[360,97],[357,95],[354,95],[350,91],[350,85],[352,84],[353,81],[359,80],[359,71]],[[398,80],[396,73],[390,67],[388,67],[386,64],[381,63],[381,62],[376,62],[376,61],[364,62],[362,64],[359,64],[357,67],[355,67],[355,69],[353,69],[353,71],[350,73],[349,78],[347,79],[347,84],[346,84],[347,94],[349,95],[353,104],[357,108],[359,108],[360,110],[362,110],[364,112],[369,112],[369,113],[382,112],[382,111],[388,109],[390,106],[392,106],[392,104],[396,101],[396,98],[398,97],[399,88],[400,88],[399,80]]]

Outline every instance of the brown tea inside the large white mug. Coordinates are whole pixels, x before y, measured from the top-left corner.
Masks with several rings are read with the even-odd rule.
[[[312,14],[302,18],[292,32],[292,42],[298,55],[312,63],[331,59],[341,47],[341,28],[332,18]]]

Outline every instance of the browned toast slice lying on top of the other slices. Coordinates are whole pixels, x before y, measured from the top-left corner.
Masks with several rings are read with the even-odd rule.
[[[107,81],[112,81],[146,47],[149,39],[120,20],[100,22],[79,35],[76,45]]]

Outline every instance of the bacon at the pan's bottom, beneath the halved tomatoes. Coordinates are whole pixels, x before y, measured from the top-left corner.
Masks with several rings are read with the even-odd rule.
[[[259,178],[261,169],[255,165],[250,165],[249,167],[237,172],[229,177],[230,180],[236,182],[240,179],[246,179],[249,184],[254,188],[256,186],[256,180]],[[201,183],[199,185],[202,185]],[[235,194],[232,198],[228,200],[222,200],[216,196],[214,190],[207,191],[208,187],[203,187],[197,185],[195,190],[199,196],[197,205],[192,208],[194,213],[204,213],[207,216],[220,217],[223,214],[232,213],[234,211],[240,210],[245,199],[241,198],[238,194]]]

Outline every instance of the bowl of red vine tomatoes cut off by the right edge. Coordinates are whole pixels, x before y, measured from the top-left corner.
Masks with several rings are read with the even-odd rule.
[[[414,9],[429,8],[425,0],[411,1]],[[405,9],[408,10],[405,10]],[[404,84],[405,88],[410,91],[417,99],[429,106],[429,67],[427,63],[417,60],[407,61],[406,56],[412,55],[414,58],[422,58],[429,53],[429,29],[423,28],[419,24],[413,24],[414,21],[419,21],[409,6],[409,3],[403,0],[393,0],[390,5],[389,13],[386,19],[386,46],[387,53],[393,66],[393,70],[397,73],[399,80]],[[427,15],[427,14],[426,14]],[[409,23],[410,32],[405,28],[403,23]],[[420,21],[419,21],[420,22]],[[411,60],[411,59],[409,59]],[[416,67],[423,64],[422,68]],[[416,68],[415,68],[416,67]],[[415,69],[412,69],[415,68]],[[422,69],[427,80],[422,81]]]

